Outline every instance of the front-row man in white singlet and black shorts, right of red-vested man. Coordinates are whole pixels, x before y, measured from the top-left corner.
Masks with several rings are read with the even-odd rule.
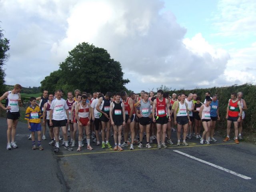
[[[177,146],[180,146],[180,132],[183,127],[183,142],[182,145],[187,146],[186,136],[188,133],[188,124],[191,125],[190,117],[188,114],[188,106],[185,102],[185,94],[180,94],[180,101],[174,102],[174,124],[177,125]]]

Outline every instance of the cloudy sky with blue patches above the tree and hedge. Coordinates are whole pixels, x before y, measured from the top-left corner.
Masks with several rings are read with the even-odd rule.
[[[0,0],[6,84],[40,86],[81,42],[119,61],[128,90],[256,83],[255,0]]]

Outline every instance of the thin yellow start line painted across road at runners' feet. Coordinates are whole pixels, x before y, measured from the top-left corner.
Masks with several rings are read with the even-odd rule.
[[[222,143],[222,144],[212,144],[212,145],[196,145],[197,143],[188,143],[188,146],[168,146],[167,149],[176,149],[176,148],[189,148],[189,147],[206,147],[206,146],[217,146],[217,145],[233,145],[236,143]],[[156,144],[154,144],[156,145]],[[152,146],[154,146],[152,145]],[[156,145],[157,146],[157,145]],[[86,150],[86,148],[85,148]],[[90,154],[103,154],[103,153],[116,153],[116,152],[133,152],[133,151],[141,151],[141,150],[157,150],[157,148],[143,148],[143,149],[134,149],[134,150],[123,150],[123,151],[114,151],[112,148],[106,149],[104,151],[98,152],[86,152],[86,153],[75,153],[75,154],[65,154],[65,155],[57,155],[58,157],[67,157],[67,156],[75,156],[75,155],[90,155]],[[163,150],[163,149],[162,149]]]

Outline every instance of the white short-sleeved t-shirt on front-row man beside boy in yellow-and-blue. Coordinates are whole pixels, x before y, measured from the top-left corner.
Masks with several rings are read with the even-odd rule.
[[[66,100],[61,98],[60,100],[54,99],[52,100],[52,104],[50,109],[53,110],[52,119],[53,120],[65,120],[66,119],[66,110],[68,109],[68,105]]]

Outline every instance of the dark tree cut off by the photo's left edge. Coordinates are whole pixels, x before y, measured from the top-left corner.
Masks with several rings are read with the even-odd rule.
[[[4,34],[2,33],[3,30],[1,30],[0,27],[0,95],[5,91],[5,72],[4,72],[4,63],[8,60],[9,54],[6,52],[10,49],[9,48],[9,40],[4,38]]]

